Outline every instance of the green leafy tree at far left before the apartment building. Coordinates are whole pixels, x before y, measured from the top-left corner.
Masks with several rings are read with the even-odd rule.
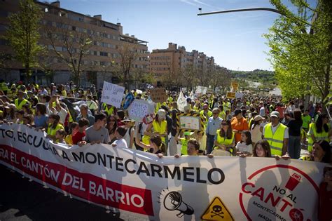
[[[38,54],[43,47],[38,44],[41,9],[33,0],[21,0],[20,11],[9,16],[10,26],[5,38],[15,52],[14,58],[25,67],[27,81],[32,68],[38,67]]]

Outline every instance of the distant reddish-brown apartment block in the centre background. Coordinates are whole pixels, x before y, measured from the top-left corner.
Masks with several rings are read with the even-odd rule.
[[[177,43],[168,43],[167,49],[154,49],[150,54],[150,72],[157,76],[177,74],[187,65],[193,65],[204,73],[214,67],[214,57],[196,50],[188,52],[184,46],[177,46]]]

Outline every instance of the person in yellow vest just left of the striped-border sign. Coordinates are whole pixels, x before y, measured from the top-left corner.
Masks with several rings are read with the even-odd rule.
[[[167,137],[167,121],[165,118],[165,110],[159,109],[157,114],[155,114],[155,119],[146,128],[144,135],[151,137],[153,134],[158,134],[160,135],[162,142],[165,142],[165,138]]]

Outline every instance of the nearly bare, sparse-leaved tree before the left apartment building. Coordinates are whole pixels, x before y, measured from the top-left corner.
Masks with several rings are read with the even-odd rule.
[[[57,58],[66,63],[76,86],[80,86],[83,58],[90,53],[98,38],[94,29],[76,29],[67,18],[59,17],[57,27],[48,29],[48,40]]]

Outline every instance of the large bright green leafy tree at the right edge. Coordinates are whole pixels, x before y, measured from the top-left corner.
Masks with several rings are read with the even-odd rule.
[[[315,94],[326,105],[331,79],[331,1],[319,0],[317,8],[312,8],[303,0],[293,0],[297,15],[280,0],[270,2],[284,15],[265,34],[283,97]]]

